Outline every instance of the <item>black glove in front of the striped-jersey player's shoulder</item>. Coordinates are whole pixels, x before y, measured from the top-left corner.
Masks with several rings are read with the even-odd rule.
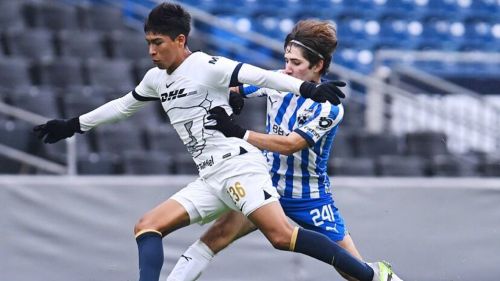
[[[328,81],[320,84],[304,81],[300,85],[300,95],[315,102],[324,103],[329,101],[333,105],[338,105],[340,99],[345,98],[345,94],[342,93],[339,87],[345,85],[343,81]]]

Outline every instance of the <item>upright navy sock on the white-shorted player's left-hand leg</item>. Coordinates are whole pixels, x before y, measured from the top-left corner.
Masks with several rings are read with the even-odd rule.
[[[148,229],[139,232],[135,240],[139,249],[139,281],[158,281],[163,266],[162,234]]]

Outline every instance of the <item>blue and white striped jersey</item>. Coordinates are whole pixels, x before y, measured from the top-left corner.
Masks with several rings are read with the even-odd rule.
[[[342,105],[317,103],[293,93],[255,86],[242,89],[247,98],[267,96],[267,133],[288,135],[296,132],[309,143],[309,148],[289,156],[264,151],[273,185],[280,195],[303,199],[330,196],[327,164],[344,115]]]

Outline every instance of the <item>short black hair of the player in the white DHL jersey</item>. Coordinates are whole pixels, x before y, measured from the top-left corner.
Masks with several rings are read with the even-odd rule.
[[[167,35],[175,40],[179,34],[187,37],[191,31],[191,15],[181,5],[164,2],[148,15],[144,23],[144,33]]]

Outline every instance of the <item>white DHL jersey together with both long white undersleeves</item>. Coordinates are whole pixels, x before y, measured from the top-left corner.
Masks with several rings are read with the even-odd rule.
[[[159,68],[150,69],[134,91],[79,116],[80,129],[91,130],[101,124],[125,119],[147,104],[160,101],[170,122],[191,153],[200,176],[217,170],[217,165],[244,151],[260,151],[238,138],[226,138],[221,132],[207,130],[208,111],[222,106],[228,114],[229,86],[238,83],[300,93],[302,80],[238,63],[224,57],[195,52],[171,74]],[[167,140],[166,140],[167,141]]]

